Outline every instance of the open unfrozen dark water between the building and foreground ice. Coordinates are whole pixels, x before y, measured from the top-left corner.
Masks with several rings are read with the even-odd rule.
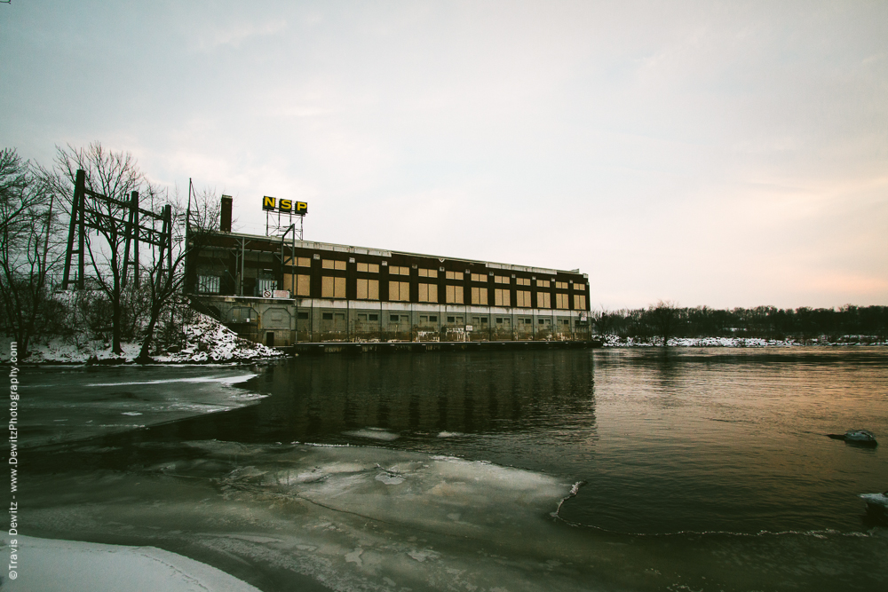
[[[888,488],[884,348],[300,357],[255,407],[152,438],[385,446],[542,470],[620,533],[861,531]],[[825,434],[866,428],[884,446]]]

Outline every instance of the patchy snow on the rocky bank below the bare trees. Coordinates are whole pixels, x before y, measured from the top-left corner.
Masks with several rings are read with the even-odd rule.
[[[239,337],[231,329],[218,320],[194,312],[194,322],[182,327],[185,343],[174,349],[176,351],[160,351],[152,354],[152,359],[162,363],[201,363],[201,362],[234,362],[275,358],[283,356],[283,352],[266,347],[262,343],[253,343]],[[131,362],[139,357],[141,343],[123,343],[123,354],[115,355],[111,345],[104,340],[86,340],[61,338],[35,343],[29,349],[29,364],[40,363],[85,363],[89,360],[112,360]],[[5,348],[4,348],[5,350]],[[0,352],[0,356],[9,358],[9,351]]]

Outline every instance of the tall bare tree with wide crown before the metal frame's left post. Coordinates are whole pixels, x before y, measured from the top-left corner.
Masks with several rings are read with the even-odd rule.
[[[118,202],[128,202],[132,192],[144,192],[147,188],[145,176],[132,154],[108,151],[99,142],[93,142],[85,148],[56,146],[55,168],[41,169],[41,172],[45,183],[59,195],[64,195],[70,204],[78,169],[85,171],[88,189]],[[124,217],[123,206],[114,201],[88,197],[85,209],[87,217],[101,216],[106,221]],[[127,239],[123,225],[107,223],[101,227],[98,234],[104,241],[96,241],[88,233],[86,251],[99,288],[111,303],[111,349],[120,354],[123,353],[122,296],[127,284],[123,254]]]

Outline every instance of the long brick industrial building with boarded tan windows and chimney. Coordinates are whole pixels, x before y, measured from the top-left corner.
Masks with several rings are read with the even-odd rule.
[[[231,232],[192,233],[186,292],[251,341],[587,341],[589,281],[563,271]]]

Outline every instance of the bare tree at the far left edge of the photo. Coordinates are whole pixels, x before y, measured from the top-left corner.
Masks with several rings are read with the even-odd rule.
[[[13,149],[0,151],[0,317],[23,358],[52,304],[48,278],[59,262],[52,206],[31,164]]]

